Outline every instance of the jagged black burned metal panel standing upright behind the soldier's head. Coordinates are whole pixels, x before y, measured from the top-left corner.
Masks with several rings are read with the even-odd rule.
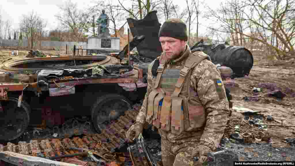
[[[157,11],[149,12],[143,19],[135,20],[127,18],[132,36],[144,35],[145,40],[140,42],[136,48],[141,56],[155,59],[162,53],[158,33],[161,24],[157,17]]]

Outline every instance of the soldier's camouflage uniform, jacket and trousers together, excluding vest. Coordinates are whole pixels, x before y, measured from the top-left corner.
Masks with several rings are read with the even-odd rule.
[[[189,46],[186,45],[184,54],[191,54]],[[191,55],[190,55],[191,56]],[[175,63],[167,63],[165,69],[181,68],[185,59]],[[148,67],[148,87],[145,99],[136,122],[146,123],[148,96],[152,90],[155,76],[152,75],[153,61]],[[205,109],[205,125],[198,130],[183,131],[180,135],[159,128],[161,135],[162,161],[164,166],[168,165],[194,165],[191,153],[198,145],[205,145],[214,151],[221,140],[229,114],[229,103],[225,97],[225,89],[222,86],[221,93],[217,91],[215,80],[220,78],[216,66],[209,60],[202,60],[192,69],[190,76],[190,92],[192,96],[198,97]]]

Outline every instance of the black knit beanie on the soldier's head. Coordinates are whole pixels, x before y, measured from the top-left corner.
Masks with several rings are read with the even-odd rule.
[[[186,25],[180,19],[169,19],[163,23],[159,31],[159,38],[161,36],[187,41]]]

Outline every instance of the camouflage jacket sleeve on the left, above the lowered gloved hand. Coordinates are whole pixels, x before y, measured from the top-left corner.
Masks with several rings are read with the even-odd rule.
[[[148,107],[148,95],[150,94],[150,91],[152,89],[152,85],[153,85],[153,75],[152,75],[152,66],[154,64],[155,61],[153,61],[152,63],[150,63],[150,65],[148,66],[148,77],[147,77],[147,82],[148,82],[148,87],[147,87],[147,92],[145,93],[145,98],[142,102],[142,106],[139,110],[139,113],[136,117],[136,122],[145,124],[145,120],[146,120],[146,115],[147,115],[147,110],[146,108]]]

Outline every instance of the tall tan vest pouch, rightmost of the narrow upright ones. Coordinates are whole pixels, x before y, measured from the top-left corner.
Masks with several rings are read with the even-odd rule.
[[[181,134],[184,131],[183,98],[171,97],[171,132]]]

